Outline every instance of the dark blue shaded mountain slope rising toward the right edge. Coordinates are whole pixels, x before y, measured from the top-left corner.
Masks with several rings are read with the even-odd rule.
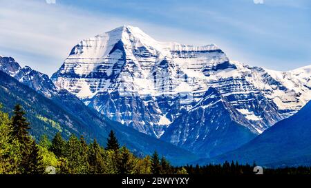
[[[311,165],[310,112],[311,102],[242,147],[207,161],[214,163],[225,160],[238,160],[241,163],[256,161],[257,165],[272,167]],[[202,161],[204,160],[200,160],[201,163]]]

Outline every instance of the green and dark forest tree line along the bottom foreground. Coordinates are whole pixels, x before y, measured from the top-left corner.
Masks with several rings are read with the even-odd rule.
[[[1,104],[0,104],[1,109]],[[47,174],[54,167],[57,174],[254,174],[253,165],[225,162],[222,165],[185,165],[174,167],[157,152],[138,157],[125,146],[120,147],[111,130],[106,147],[84,136],[71,135],[68,140],[58,132],[52,140],[43,135],[36,143],[29,134],[30,123],[21,105],[12,117],[0,110],[0,174]],[[310,167],[264,169],[265,174],[311,174]]]

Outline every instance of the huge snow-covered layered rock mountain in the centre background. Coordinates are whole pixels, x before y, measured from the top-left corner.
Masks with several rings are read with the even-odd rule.
[[[249,67],[214,44],[160,42],[129,25],[80,41],[52,80],[113,121],[207,157],[311,98],[310,68]]]

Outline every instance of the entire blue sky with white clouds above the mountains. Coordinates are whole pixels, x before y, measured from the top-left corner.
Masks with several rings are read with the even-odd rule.
[[[0,55],[51,75],[82,39],[133,25],[158,41],[215,43],[232,60],[291,70],[311,64],[310,8],[309,0],[0,0]]]

